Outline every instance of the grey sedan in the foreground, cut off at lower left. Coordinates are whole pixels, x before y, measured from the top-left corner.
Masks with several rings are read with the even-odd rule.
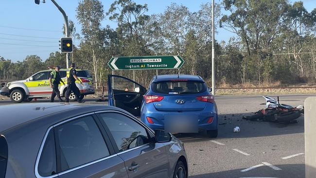
[[[116,107],[5,105],[0,123],[0,178],[188,177],[181,141]]]

